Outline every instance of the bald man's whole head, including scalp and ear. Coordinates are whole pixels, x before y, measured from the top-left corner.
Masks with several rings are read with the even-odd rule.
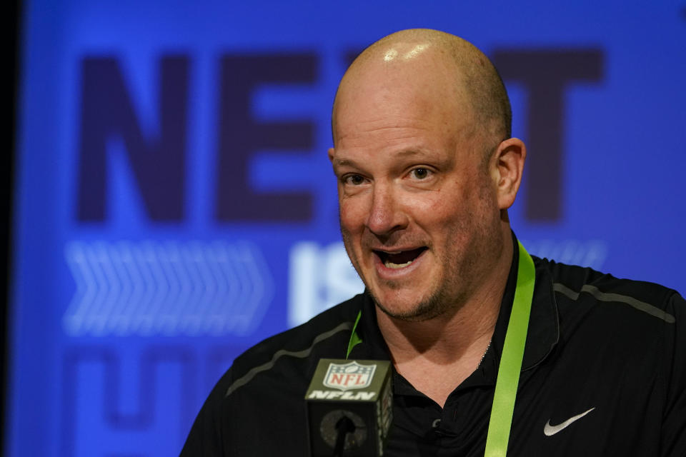
[[[439,31],[387,36],[344,75],[329,150],[341,229],[389,315],[454,309],[502,263],[526,154],[510,118],[488,59]]]

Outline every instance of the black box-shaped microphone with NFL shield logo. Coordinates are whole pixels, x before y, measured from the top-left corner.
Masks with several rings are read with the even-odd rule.
[[[305,394],[310,456],[383,456],[392,401],[389,361],[322,358]]]

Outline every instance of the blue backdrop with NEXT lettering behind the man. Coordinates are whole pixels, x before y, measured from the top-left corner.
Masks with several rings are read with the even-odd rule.
[[[234,356],[361,290],[329,114],[398,29],[501,69],[532,253],[686,291],[686,4],[573,5],[26,2],[5,454],[174,455]]]

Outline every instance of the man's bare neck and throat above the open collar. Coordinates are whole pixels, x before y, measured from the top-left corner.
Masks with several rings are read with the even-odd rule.
[[[377,322],[397,371],[417,390],[443,405],[476,368],[489,346],[512,266],[511,238],[483,281],[449,313],[403,321],[377,307]]]

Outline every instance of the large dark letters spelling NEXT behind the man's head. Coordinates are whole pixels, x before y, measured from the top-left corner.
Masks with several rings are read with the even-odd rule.
[[[562,148],[565,87],[570,81],[598,81],[604,56],[597,49],[496,49],[494,63],[507,80],[528,89],[527,139],[537,155],[530,166],[525,216],[555,221],[562,216]],[[345,53],[349,59],[351,53]],[[79,161],[76,219],[107,219],[109,141],[124,144],[126,161],[151,221],[183,221],[190,57],[159,58],[157,128],[144,132],[134,111],[116,56],[81,61]],[[217,163],[214,218],[219,222],[279,222],[312,219],[312,191],[257,192],[249,167],[260,150],[310,151],[314,121],[260,122],[251,116],[252,89],[259,84],[315,84],[319,58],[314,52],[227,54],[219,60]],[[544,190],[545,189],[545,190]]]

